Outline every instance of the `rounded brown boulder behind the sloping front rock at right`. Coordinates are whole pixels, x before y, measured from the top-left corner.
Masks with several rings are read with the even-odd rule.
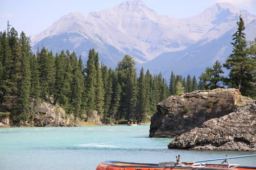
[[[199,128],[211,118],[220,118],[236,111],[238,105],[253,101],[234,88],[217,88],[170,96],[157,105],[151,117],[150,137],[174,138]]]

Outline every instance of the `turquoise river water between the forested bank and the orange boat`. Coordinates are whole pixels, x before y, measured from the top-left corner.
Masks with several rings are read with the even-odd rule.
[[[256,152],[168,150],[172,139],[148,138],[148,125],[77,128],[1,128],[0,169],[96,169],[104,160],[159,163],[215,159]],[[220,163],[221,161],[218,161]],[[230,163],[256,165],[256,158]]]

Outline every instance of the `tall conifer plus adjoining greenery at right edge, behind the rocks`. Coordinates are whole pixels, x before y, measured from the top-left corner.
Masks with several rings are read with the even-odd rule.
[[[226,84],[240,90],[242,95],[250,96],[250,91],[255,91],[255,84],[252,83],[255,82],[255,48],[253,43],[247,48],[245,25],[241,16],[237,25],[237,31],[233,34],[234,42],[231,43],[233,53],[224,63],[224,67],[230,70]]]

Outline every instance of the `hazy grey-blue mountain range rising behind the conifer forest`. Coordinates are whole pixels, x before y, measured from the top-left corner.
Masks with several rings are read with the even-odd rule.
[[[232,35],[239,15],[245,22],[248,41],[256,37],[256,16],[229,3],[217,3],[190,18],[158,15],[142,1],[91,12],[62,16],[45,31],[31,36],[36,51],[46,46],[53,52],[69,50],[87,61],[94,48],[100,60],[115,68],[125,54],[134,57],[138,70],[170,78],[171,71],[197,77],[218,59],[224,63],[232,53]]]

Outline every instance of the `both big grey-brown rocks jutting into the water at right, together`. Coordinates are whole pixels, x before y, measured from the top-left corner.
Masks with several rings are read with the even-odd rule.
[[[236,89],[170,96],[157,108],[150,137],[175,138],[168,148],[256,150],[256,104]]]

